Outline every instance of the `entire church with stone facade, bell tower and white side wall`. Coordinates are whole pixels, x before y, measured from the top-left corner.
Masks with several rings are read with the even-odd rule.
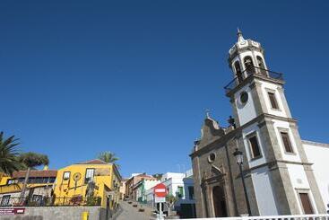
[[[238,31],[228,61],[229,127],[207,113],[190,154],[197,216],[325,214],[329,145],[300,138],[283,75],[267,68],[259,42]]]

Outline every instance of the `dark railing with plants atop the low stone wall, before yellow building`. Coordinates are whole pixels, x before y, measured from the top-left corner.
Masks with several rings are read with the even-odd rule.
[[[0,198],[0,207],[96,207],[100,206],[100,197],[91,198]]]

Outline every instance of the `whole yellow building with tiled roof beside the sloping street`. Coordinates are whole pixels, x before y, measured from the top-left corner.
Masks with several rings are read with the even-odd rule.
[[[55,205],[114,208],[119,199],[121,175],[113,163],[91,160],[58,170],[54,186]]]

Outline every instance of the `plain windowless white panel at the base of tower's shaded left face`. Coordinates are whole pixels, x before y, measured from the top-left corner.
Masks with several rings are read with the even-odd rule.
[[[255,189],[255,197],[260,216],[279,215],[277,201],[273,193],[269,172],[267,167],[261,167],[251,172]]]

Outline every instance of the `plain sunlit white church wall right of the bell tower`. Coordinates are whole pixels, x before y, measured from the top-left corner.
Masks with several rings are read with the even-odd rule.
[[[329,205],[329,145],[303,141],[305,153],[316,176],[316,183],[320,190],[325,207]]]

